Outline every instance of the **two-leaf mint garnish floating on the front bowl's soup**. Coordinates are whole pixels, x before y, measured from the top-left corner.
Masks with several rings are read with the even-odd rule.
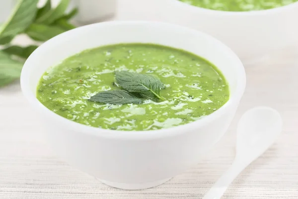
[[[142,103],[144,100],[165,100],[160,90],[165,89],[157,77],[116,71],[116,85],[124,90],[104,91],[92,96],[89,100],[109,104]]]

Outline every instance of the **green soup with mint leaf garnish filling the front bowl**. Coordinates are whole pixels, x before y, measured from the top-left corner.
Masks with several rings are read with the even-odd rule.
[[[154,44],[85,50],[51,67],[37,98],[75,122],[113,130],[187,124],[229,99],[221,72],[189,52]]]

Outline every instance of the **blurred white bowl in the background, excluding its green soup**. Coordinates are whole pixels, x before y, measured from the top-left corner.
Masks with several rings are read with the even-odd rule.
[[[246,12],[205,9],[179,0],[163,0],[162,20],[204,31],[251,63],[298,45],[298,2]]]

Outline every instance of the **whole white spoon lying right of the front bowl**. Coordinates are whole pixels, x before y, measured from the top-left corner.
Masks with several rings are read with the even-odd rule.
[[[275,109],[259,106],[246,111],[238,123],[235,160],[203,199],[220,199],[229,184],[273,144],[281,131],[282,118]]]

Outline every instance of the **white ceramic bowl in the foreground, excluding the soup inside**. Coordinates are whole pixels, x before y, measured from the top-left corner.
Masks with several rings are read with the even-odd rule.
[[[171,46],[206,58],[223,72],[230,99],[200,120],[151,131],[86,126],[59,116],[36,99],[38,81],[50,66],[88,48],[128,42]],[[205,33],[167,23],[114,21],[79,27],[42,44],[23,67],[21,87],[44,122],[49,143],[63,160],[112,187],[145,189],[194,166],[219,141],[243,95],[245,72],[228,47]]]

